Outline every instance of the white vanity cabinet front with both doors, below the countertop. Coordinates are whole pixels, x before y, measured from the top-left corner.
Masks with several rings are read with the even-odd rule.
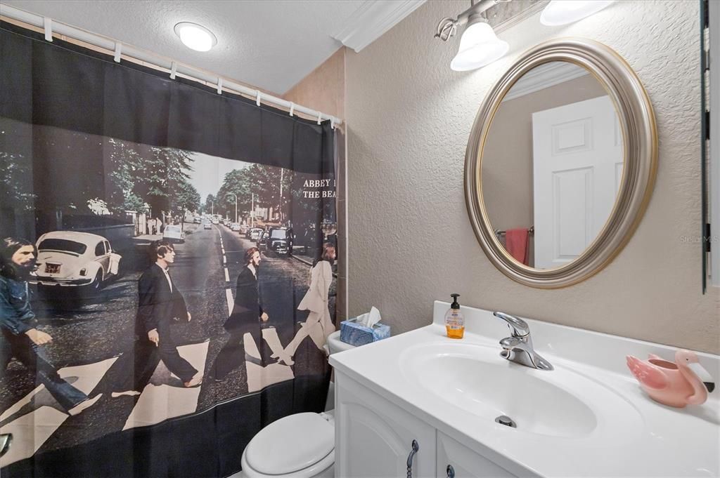
[[[335,390],[336,477],[407,477],[413,440],[413,478],[516,476],[337,369]]]

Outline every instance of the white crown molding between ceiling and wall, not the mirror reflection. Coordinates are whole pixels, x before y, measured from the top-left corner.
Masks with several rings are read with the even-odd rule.
[[[333,38],[359,52],[413,13],[426,0],[367,0],[344,22]]]

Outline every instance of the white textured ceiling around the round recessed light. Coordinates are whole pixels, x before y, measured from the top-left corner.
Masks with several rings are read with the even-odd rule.
[[[337,32],[363,0],[3,0],[4,4],[105,35],[274,93],[285,93],[333,54]],[[210,52],[183,45],[173,27],[202,24]]]

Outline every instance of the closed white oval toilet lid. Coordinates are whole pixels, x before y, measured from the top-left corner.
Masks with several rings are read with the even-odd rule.
[[[287,474],[312,466],[335,449],[335,427],[318,413],[274,421],[248,443],[246,459],[257,472]]]

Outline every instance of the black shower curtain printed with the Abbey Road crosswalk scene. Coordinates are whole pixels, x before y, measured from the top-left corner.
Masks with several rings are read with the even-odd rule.
[[[298,305],[336,245],[333,129],[0,35],[0,473],[238,472],[262,427],[325,406]]]

